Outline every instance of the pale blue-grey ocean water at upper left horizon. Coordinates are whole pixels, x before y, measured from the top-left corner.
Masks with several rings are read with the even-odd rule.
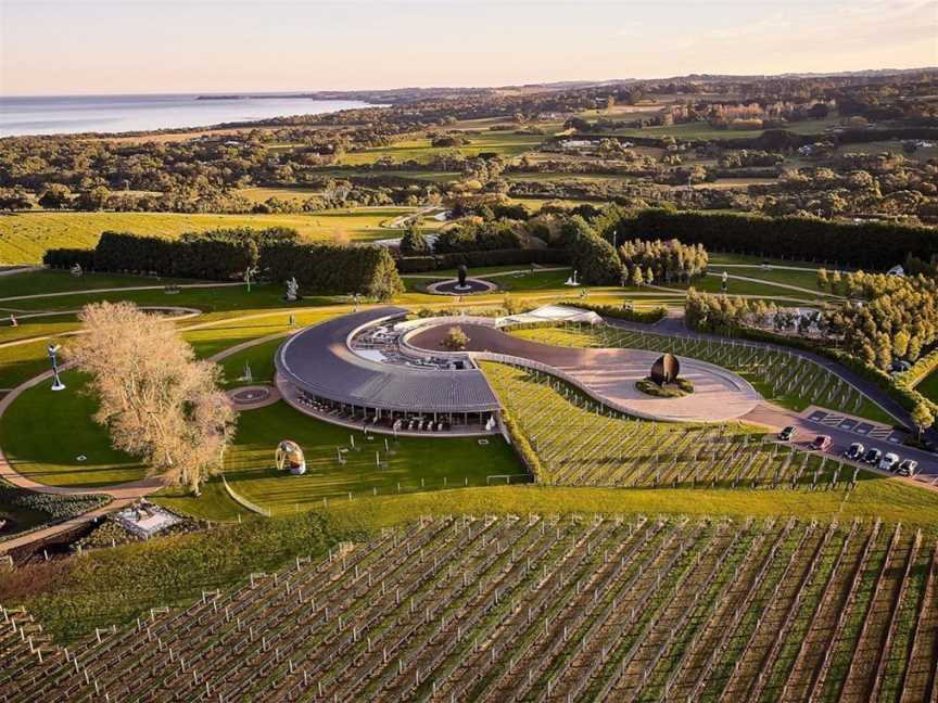
[[[226,93],[228,94],[228,93]],[[197,100],[198,94],[0,97],[0,137],[122,132],[315,115],[367,103],[300,97]]]

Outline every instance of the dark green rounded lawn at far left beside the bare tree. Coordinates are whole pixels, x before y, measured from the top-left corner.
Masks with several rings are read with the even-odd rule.
[[[0,418],[0,447],[18,473],[51,486],[102,487],[142,478],[143,466],[111,448],[91,416],[97,402],[85,379],[66,371],[65,391],[43,382],[25,391]],[[77,457],[85,456],[85,461]]]

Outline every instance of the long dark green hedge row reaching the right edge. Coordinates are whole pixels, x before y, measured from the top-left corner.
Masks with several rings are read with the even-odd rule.
[[[886,222],[840,222],[809,217],[763,217],[730,213],[648,208],[626,213],[604,233],[624,239],[670,240],[708,250],[755,256],[816,258],[867,269],[901,264],[911,253],[938,254],[938,230]]]

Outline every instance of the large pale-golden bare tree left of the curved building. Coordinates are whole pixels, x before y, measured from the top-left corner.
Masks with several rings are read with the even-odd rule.
[[[132,303],[94,303],[78,316],[87,334],[66,357],[91,376],[97,422],[115,449],[151,474],[198,490],[221,469],[237,413],[218,388],[221,369],[195,359],[172,322]]]

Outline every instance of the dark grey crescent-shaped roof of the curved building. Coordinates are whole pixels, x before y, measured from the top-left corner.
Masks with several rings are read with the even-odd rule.
[[[380,307],[312,327],[284,342],[275,366],[299,388],[352,405],[413,412],[487,412],[498,399],[479,369],[420,369],[365,359],[348,348],[359,328],[403,317]]]

